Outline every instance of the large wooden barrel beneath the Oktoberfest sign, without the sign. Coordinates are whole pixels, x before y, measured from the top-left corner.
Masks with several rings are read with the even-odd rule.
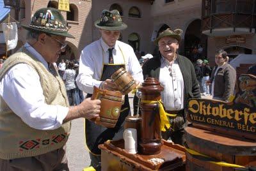
[[[205,154],[218,161],[241,166],[256,166],[256,142],[245,138],[234,138],[214,131],[187,127],[185,129],[186,144],[189,149]],[[186,170],[229,171],[232,167],[222,167],[210,163],[202,156],[186,152]]]

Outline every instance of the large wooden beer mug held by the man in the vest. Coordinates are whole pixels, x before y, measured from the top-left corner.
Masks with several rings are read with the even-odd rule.
[[[107,128],[114,128],[122,107],[122,93],[93,87],[92,100],[100,100],[99,118],[96,124]]]

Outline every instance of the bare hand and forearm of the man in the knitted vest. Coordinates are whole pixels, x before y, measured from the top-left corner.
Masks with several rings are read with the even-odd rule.
[[[79,105],[69,107],[68,114],[63,120],[63,123],[80,117],[84,117],[85,119],[93,119],[99,117],[100,103],[100,100],[91,100],[91,98],[86,98]]]

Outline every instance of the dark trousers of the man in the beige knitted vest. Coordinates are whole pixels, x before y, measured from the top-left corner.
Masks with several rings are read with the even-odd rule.
[[[4,171],[68,171],[66,146],[45,154],[12,160],[0,159]]]

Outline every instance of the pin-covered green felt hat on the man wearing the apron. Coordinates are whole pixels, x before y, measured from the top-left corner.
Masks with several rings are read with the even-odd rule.
[[[100,20],[94,22],[95,27],[104,30],[116,31],[127,28],[127,25],[122,22],[118,10],[103,10]]]

